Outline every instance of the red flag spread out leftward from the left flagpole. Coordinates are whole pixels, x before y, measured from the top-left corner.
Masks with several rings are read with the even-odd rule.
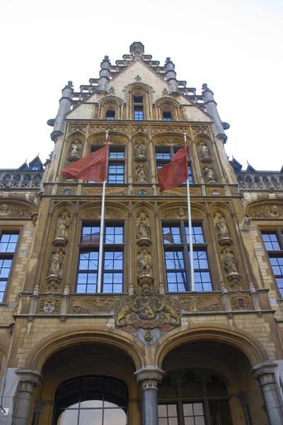
[[[107,140],[105,146],[96,152],[65,166],[61,174],[65,179],[74,177],[75,179],[86,179],[102,183],[106,179],[106,162]]]

